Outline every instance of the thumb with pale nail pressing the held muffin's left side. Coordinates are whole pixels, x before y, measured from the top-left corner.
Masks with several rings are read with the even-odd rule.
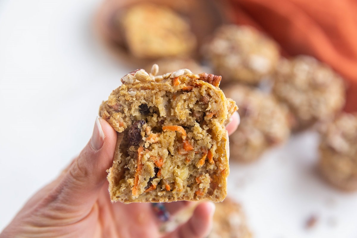
[[[97,118],[90,141],[62,175],[48,202],[55,201],[56,209],[85,211],[85,208],[91,208],[106,181],[115,144],[114,129],[105,120]]]

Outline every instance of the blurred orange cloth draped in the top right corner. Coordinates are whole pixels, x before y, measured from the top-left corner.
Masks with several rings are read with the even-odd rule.
[[[282,54],[307,54],[326,62],[347,81],[346,111],[357,111],[356,0],[227,0],[237,24],[266,32]]]

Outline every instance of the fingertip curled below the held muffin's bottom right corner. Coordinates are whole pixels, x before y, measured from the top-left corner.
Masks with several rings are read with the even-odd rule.
[[[175,231],[170,232],[164,238],[203,238],[207,237],[212,228],[212,218],[215,212],[215,204],[203,202],[199,204],[192,217]]]

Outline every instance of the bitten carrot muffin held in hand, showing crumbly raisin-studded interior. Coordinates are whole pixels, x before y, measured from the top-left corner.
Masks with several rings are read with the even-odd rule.
[[[124,76],[100,107],[118,132],[108,174],[112,201],[222,201],[229,173],[225,123],[237,106],[189,70],[138,72]]]

